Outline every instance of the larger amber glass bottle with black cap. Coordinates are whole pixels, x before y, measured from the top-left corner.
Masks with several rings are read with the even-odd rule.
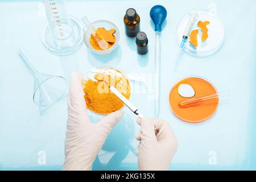
[[[125,23],[125,32],[129,37],[135,37],[140,31],[139,22],[141,18],[136,13],[136,10],[129,8],[126,10],[126,14],[123,17],[123,22]]]

